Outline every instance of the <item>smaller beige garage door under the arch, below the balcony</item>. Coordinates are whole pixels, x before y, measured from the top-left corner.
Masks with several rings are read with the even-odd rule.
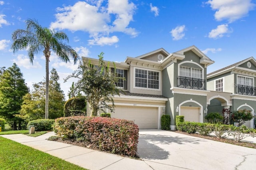
[[[200,122],[199,121],[199,107],[180,107],[180,115],[184,116],[185,121]]]

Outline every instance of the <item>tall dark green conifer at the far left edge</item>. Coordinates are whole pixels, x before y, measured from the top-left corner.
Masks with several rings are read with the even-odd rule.
[[[4,71],[0,77],[0,115],[13,122],[14,130],[21,129],[22,119],[15,115],[20,114],[22,97],[28,93],[23,75],[16,63]]]

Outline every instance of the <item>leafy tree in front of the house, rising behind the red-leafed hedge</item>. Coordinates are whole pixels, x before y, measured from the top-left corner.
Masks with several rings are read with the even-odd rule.
[[[90,116],[96,116],[98,110],[105,112],[105,108],[114,111],[114,95],[119,95],[121,89],[116,87],[115,83],[121,77],[117,74],[111,73],[108,65],[105,65],[103,54],[100,53],[98,66],[93,65],[90,61],[83,63],[80,60],[78,69],[64,79],[66,82],[70,78],[77,78],[78,81],[74,85],[74,94],[78,95],[83,92],[86,101],[89,103]],[[106,102],[111,102],[112,106]]]

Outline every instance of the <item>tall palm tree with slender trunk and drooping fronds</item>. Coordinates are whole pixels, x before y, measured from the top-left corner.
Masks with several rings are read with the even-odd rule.
[[[18,50],[28,49],[28,57],[33,64],[34,55],[41,52],[44,53],[46,61],[46,97],[45,97],[45,119],[48,119],[48,101],[49,101],[49,59],[51,51],[56,53],[58,58],[64,62],[68,62],[69,57],[74,59],[76,63],[78,54],[69,45],[68,36],[64,32],[58,32],[54,29],[42,27],[37,20],[26,20],[26,30],[15,30],[12,33],[13,43],[11,49],[14,53]]]

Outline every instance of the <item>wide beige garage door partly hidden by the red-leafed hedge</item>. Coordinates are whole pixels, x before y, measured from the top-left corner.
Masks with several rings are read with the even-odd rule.
[[[116,106],[111,117],[134,121],[139,128],[157,128],[157,107]]]

